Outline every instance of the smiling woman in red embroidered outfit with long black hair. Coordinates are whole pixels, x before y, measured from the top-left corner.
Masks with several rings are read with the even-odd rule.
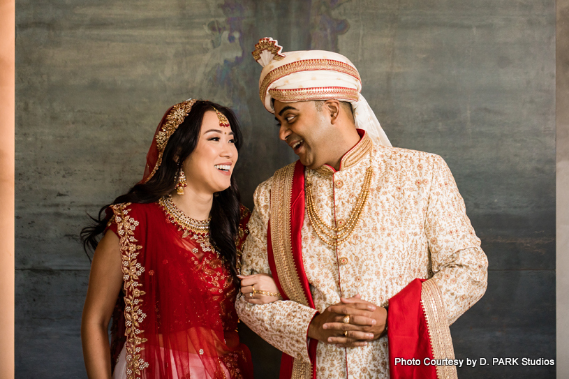
[[[143,179],[82,230],[96,247],[81,327],[89,378],[253,377],[234,306],[250,215],[232,178],[241,143],[228,108],[170,107]],[[280,298],[257,279],[256,302]]]

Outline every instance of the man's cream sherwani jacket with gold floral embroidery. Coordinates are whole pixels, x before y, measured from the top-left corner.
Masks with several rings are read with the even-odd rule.
[[[367,204],[353,235],[337,248],[314,232],[305,213],[302,259],[316,309],[361,294],[385,306],[415,278],[441,289],[449,325],[485,292],[487,258],[465,213],[455,180],[440,156],[372,144],[367,135],[341,160],[306,170],[316,211],[328,224],[347,221],[365,172],[374,168]],[[270,273],[267,224],[269,179],[255,191],[242,273]],[[292,301],[253,305],[237,300],[239,317],[279,350],[309,361],[306,334],[316,311]],[[318,343],[318,379],[389,378],[387,337],[360,348]]]

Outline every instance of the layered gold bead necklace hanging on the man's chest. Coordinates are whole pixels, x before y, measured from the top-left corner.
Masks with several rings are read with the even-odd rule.
[[[364,210],[364,206],[367,202],[367,198],[369,195],[369,187],[371,186],[371,177],[374,174],[374,169],[371,168],[371,165],[366,170],[366,176],[364,178],[364,184],[362,185],[362,190],[360,191],[360,195],[357,196],[357,200],[355,202],[355,207],[348,218],[346,224],[339,226],[338,228],[332,227],[332,225],[328,225],[323,221],[320,217],[318,212],[316,211],[316,207],[314,206],[314,199],[312,197],[312,184],[310,182],[310,173],[306,178],[306,211],[308,213],[308,217],[310,219],[310,223],[312,224],[316,235],[322,239],[325,244],[330,246],[339,246],[347,241],[353,231],[357,223],[362,218],[362,213]]]

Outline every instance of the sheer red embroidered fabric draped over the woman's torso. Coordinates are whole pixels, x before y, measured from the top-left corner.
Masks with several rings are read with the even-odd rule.
[[[111,209],[108,229],[119,236],[124,272],[112,362],[124,345],[127,378],[253,378],[237,335],[238,283],[207,232],[180,224],[158,202]],[[242,228],[248,218],[243,208]]]

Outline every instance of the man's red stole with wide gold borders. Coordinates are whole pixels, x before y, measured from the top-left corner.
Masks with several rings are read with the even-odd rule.
[[[276,171],[273,176],[267,255],[283,299],[315,309],[302,262],[301,228],[306,204],[304,170],[304,165],[297,161]],[[392,297],[387,325],[392,379],[457,377],[455,366],[446,365],[448,361],[438,362],[445,358],[454,359],[455,355],[441,291],[433,280],[415,279]],[[318,341],[310,340],[310,364],[283,353],[280,379],[316,379],[317,345]],[[413,358],[420,364],[403,364]],[[406,359],[406,362],[400,359]]]

